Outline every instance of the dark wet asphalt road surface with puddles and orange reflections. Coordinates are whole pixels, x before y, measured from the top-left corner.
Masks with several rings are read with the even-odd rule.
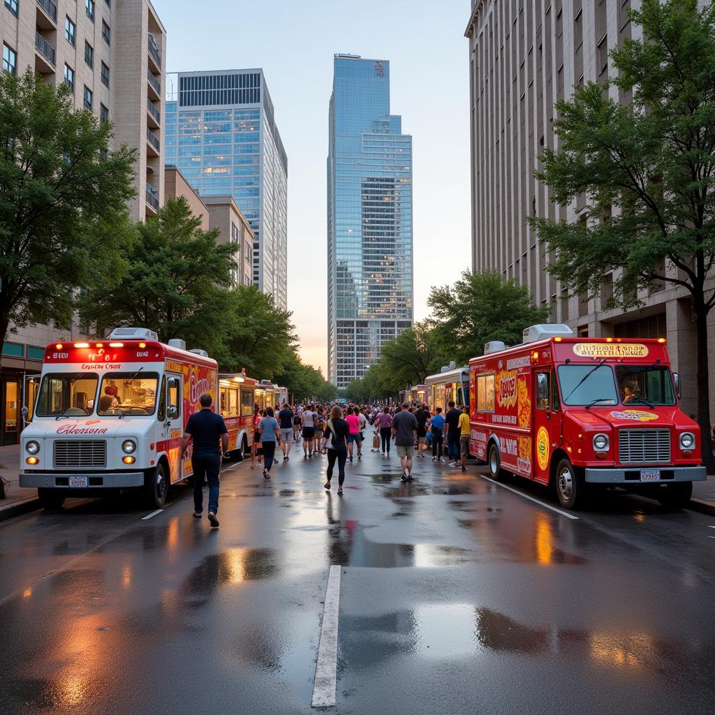
[[[227,467],[217,531],[188,488],[0,524],[1,713],[314,712],[331,564],[336,714],[715,711],[715,518],[616,494],[570,519],[369,451],[342,498],[300,448],[269,483]]]

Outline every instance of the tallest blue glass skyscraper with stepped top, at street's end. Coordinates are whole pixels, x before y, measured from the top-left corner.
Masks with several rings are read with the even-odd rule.
[[[412,137],[388,61],[335,55],[329,125],[327,371],[344,388],[413,320]]]

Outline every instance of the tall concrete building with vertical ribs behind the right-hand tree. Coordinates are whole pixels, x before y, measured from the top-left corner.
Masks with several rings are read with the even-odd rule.
[[[601,282],[601,295],[568,296],[546,272],[548,252],[526,217],[576,222],[586,197],[562,207],[551,202],[533,172],[544,149],[558,148],[553,105],[584,82],[602,83],[615,71],[608,52],[624,39],[641,39],[628,20],[639,0],[473,0],[469,40],[472,260],[473,270],[499,270],[528,285],[538,305],[551,306],[551,320],[590,337],[666,337],[674,369],[681,373],[683,407],[696,405],[695,331],[689,294],[671,284],[642,290],[643,307],[607,309],[614,275]],[[630,94],[618,87],[609,96],[623,104]],[[616,211],[614,207],[613,211]],[[664,270],[672,270],[664,267]],[[618,276],[615,276],[616,279]],[[715,334],[715,314],[711,314]],[[713,347],[715,350],[715,347]],[[710,360],[715,380],[715,355]],[[715,410],[715,395],[711,395]]]

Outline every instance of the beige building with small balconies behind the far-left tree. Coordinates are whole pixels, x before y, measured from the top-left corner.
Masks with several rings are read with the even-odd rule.
[[[47,84],[69,85],[74,107],[112,121],[112,148],[138,152],[134,220],[156,214],[164,201],[164,56],[166,31],[149,0],[3,0],[3,71],[31,67]],[[44,347],[83,337],[74,325],[19,328],[2,346],[0,445],[19,438],[27,380],[41,370]]]

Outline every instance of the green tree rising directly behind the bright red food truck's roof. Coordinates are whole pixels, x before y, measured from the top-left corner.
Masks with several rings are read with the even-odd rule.
[[[521,342],[528,325],[548,320],[548,306],[537,307],[528,287],[504,280],[498,271],[465,271],[453,286],[433,288],[428,298],[443,350],[460,365],[483,354],[485,342]]]

